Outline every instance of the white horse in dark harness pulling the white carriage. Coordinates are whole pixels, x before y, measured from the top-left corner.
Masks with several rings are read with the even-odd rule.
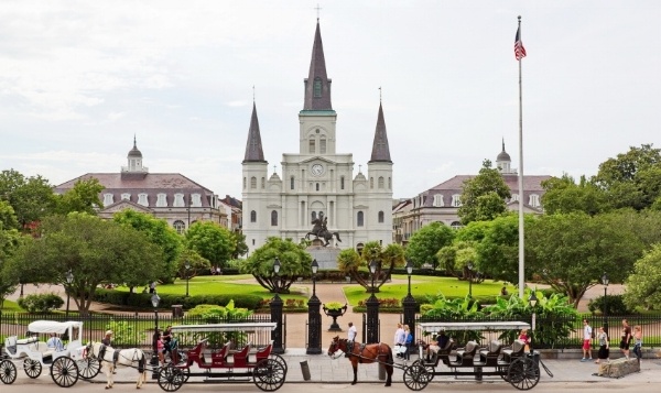
[[[96,358],[99,360],[101,368],[106,367],[106,389],[111,389],[115,381],[112,380],[112,373],[118,367],[130,367],[138,370],[138,383],[136,389],[142,387],[142,384],[147,382],[147,358],[144,352],[138,348],[120,349],[117,350],[112,347],[106,347],[101,342],[90,342],[86,348],[86,356],[88,358]]]

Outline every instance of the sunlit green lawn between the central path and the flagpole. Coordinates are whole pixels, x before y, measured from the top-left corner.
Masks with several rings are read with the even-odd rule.
[[[392,277],[407,280],[407,275],[393,275]],[[473,284],[473,297],[497,296],[500,294],[502,285],[502,282],[494,282],[491,280],[486,280],[481,284]],[[516,287],[507,285],[507,291],[514,293]],[[359,285],[344,286],[344,292],[353,306],[358,305],[359,301],[366,301],[369,297],[365,288]],[[446,297],[464,297],[468,294],[468,283],[454,277],[411,276],[412,295],[435,295],[438,292],[443,293]],[[407,283],[384,284],[381,286],[380,292],[377,293],[377,297],[401,299],[407,296]]]

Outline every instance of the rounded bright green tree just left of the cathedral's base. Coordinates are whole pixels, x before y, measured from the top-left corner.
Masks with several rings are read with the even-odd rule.
[[[196,251],[214,266],[226,268],[227,261],[236,252],[231,232],[212,221],[194,222],[186,231],[186,247]]]

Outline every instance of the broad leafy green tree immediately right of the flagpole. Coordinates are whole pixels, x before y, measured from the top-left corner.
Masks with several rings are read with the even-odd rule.
[[[527,229],[527,269],[541,274],[554,290],[566,293],[574,306],[603,272],[622,282],[644,244],[615,226],[616,214],[590,217],[584,212],[542,216]]]

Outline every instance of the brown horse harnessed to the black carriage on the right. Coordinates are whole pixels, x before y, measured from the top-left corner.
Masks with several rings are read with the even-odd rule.
[[[349,345],[346,338],[335,336],[328,348],[328,356],[334,357],[334,353],[338,350],[348,354],[351,362],[351,367],[354,368],[353,385],[358,381],[358,363],[375,362],[381,363],[386,368],[386,373],[388,374],[386,386],[390,386],[392,383],[392,364],[394,363],[394,359],[392,358],[392,350],[387,343],[360,343],[354,341]]]

